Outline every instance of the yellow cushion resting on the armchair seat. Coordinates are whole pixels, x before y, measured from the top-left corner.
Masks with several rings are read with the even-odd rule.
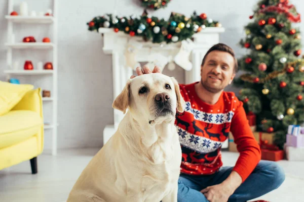
[[[0,116],[8,113],[33,87],[30,84],[12,84],[0,81]]]

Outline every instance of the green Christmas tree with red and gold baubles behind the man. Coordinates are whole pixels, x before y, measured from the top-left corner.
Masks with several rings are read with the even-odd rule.
[[[242,87],[239,99],[246,113],[257,117],[257,130],[274,132],[283,149],[289,125],[304,122],[304,60],[301,55],[300,15],[288,0],[261,0],[245,26],[240,45],[247,49],[239,59],[245,72],[234,84]]]

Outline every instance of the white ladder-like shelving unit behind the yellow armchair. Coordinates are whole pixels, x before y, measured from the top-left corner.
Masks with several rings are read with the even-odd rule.
[[[58,69],[58,59],[57,59],[57,0],[53,0],[53,16],[11,16],[10,13],[14,11],[14,0],[8,0],[8,15],[5,18],[8,21],[8,41],[5,43],[7,47],[7,70],[4,70],[4,73],[7,74],[7,77],[10,78],[11,75],[18,76],[52,76],[52,97],[43,97],[43,104],[51,103],[53,105],[52,111],[52,121],[50,124],[45,124],[45,130],[52,130],[52,155],[57,155],[57,69]],[[53,37],[50,43],[43,42],[12,42],[11,36],[14,34],[13,26],[14,24],[50,24],[53,25]],[[12,61],[13,61],[13,50],[14,49],[44,49],[47,51],[52,51],[52,64],[53,70],[13,70]],[[44,117],[46,120],[46,117]]]

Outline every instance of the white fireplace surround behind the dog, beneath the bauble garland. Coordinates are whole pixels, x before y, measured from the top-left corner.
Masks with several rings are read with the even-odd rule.
[[[158,53],[162,56],[172,56],[180,49],[181,42],[160,44],[145,42],[141,37],[131,37],[123,32],[114,32],[110,28],[99,28],[98,32],[103,35],[103,51],[105,54],[112,55],[112,70],[113,70],[113,100],[121,93],[127,80],[133,74],[133,69],[126,67],[124,54],[128,44],[132,41],[140,43],[141,48],[136,54],[137,62],[147,62],[151,54]],[[219,34],[224,32],[222,27],[207,27],[201,32],[193,35],[194,47],[189,60],[192,61],[192,70],[185,71],[185,83],[192,83],[200,80],[200,68],[204,55],[208,49],[219,42]],[[113,109],[114,124],[107,125],[103,130],[103,143],[105,144],[108,139],[115,133],[118,124],[124,117],[121,111]],[[223,144],[223,148],[227,147],[228,143]]]

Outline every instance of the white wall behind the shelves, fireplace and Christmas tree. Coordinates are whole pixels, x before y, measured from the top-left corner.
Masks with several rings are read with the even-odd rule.
[[[42,6],[37,5],[38,1],[27,0],[29,7],[34,10],[48,9],[51,1],[42,2],[44,1],[48,4]],[[173,0],[166,9],[149,11],[149,13],[165,19],[169,18],[171,12],[183,13],[187,16],[190,16],[194,10],[198,14],[207,13],[212,19],[219,20],[226,29],[226,32],[221,34],[220,41],[233,47],[240,57],[245,50],[237,43],[245,36],[243,27],[249,22],[248,17],[257,2]],[[299,13],[304,14],[302,0],[290,2],[295,4]],[[139,0],[60,0],[58,3],[58,120],[60,124],[58,146],[60,148],[101,146],[104,126],[113,123],[111,57],[103,54],[101,36],[96,32],[89,32],[86,23],[95,16],[114,11],[119,16],[141,15],[143,8],[140,7]],[[6,0],[0,0],[0,80],[5,79],[3,70],[6,69],[4,43],[7,37],[7,21],[4,16],[7,15],[7,6]],[[303,23],[296,26],[300,26],[301,31],[304,31]],[[22,25],[16,28],[18,40],[25,35],[34,35],[41,40],[49,32],[47,26],[30,26],[30,31],[25,31],[25,27],[27,26]],[[45,57],[46,53],[21,51],[14,57],[29,58],[34,62],[42,59],[46,61],[49,59],[49,56]],[[184,82],[183,70],[179,67],[174,72],[165,69],[165,73],[175,76],[179,82]],[[31,77],[31,82],[35,81],[35,78],[37,77]],[[23,78],[21,80],[23,81]],[[238,91],[231,86],[226,90]],[[45,113],[50,112],[45,110]],[[45,148],[51,146],[50,134],[46,133]]]

